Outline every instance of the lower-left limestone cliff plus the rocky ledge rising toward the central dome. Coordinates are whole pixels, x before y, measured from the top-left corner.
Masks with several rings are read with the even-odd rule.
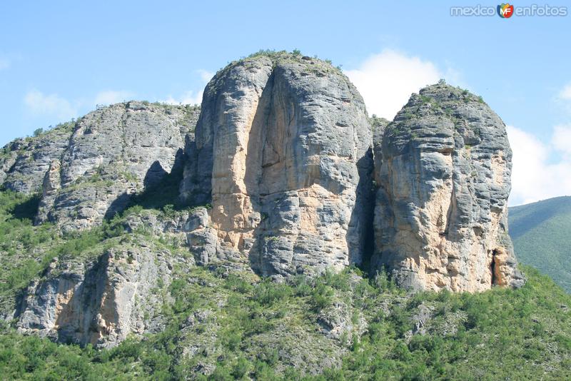
[[[201,213],[131,215],[124,222],[126,235],[103,242],[103,253],[95,248],[86,258],[54,258],[20,301],[17,327],[58,342],[95,347],[160,331],[173,268],[194,265],[183,250],[185,231]],[[165,241],[171,245],[161,245]]]

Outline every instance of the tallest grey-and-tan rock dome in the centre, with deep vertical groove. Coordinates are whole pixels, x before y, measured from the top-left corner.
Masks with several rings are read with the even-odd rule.
[[[263,275],[361,263],[372,138],[363,99],[318,59],[231,64],[204,93],[181,195],[211,202],[201,262],[247,259]]]

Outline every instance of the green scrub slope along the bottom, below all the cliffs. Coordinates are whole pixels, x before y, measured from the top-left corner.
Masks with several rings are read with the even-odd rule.
[[[205,380],[567,379],[571,297],[537,271],[526,272],[520,290],[412,295],[384,275],[368,280],[358,270],[279,284],[195,268],[169,287],[174,302],[163,312],[169,319],[163,332],[96,351],[4,327],[0,373],[30,380],[179,380],[211,363]],[[323,340],[320,311],[341,300],[351,320],[364,316],[368,330]],[[413,334],[421,310],[431,317]],[[295,341],[299,336],[305,341]],[[178,360],[179,348],[193,345],[204,349]],[[305,351],[304,362],[296,349]],[[327,353],[338,357],[337,367],[302,375],[308,363],[319,369]]]

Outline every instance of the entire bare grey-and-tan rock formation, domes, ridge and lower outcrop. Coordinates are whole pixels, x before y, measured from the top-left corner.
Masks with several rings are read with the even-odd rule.
[[[173,261],[273,278],[370,265],[407,288],[518,287],[511,156],[504,123],[468,91],[438,83],[393,122],[369,119],[343,73],[295,54],[228,65],[201,108],[98,109],[2,151],[3,186],[41,191],[36,223],[93,228],[133,195],[160,193],[173,171],[180,195],[168,203],[195,208],[129,215],[131,240],[51,263],[24,293],[19,328],[98,347],[153,332],[163,303],[153,290],[171,283]],[[177,254],[157,243],[165,237]],[[335,335],[350,326],[322,320]]]

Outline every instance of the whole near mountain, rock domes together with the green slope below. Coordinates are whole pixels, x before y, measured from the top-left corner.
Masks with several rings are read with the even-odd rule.
[[[200,107],[10,143],[0,378],[571,378],[571,295],[525,283],[506,233],[505,125],[444,81],[403,110],[262,51]]]

